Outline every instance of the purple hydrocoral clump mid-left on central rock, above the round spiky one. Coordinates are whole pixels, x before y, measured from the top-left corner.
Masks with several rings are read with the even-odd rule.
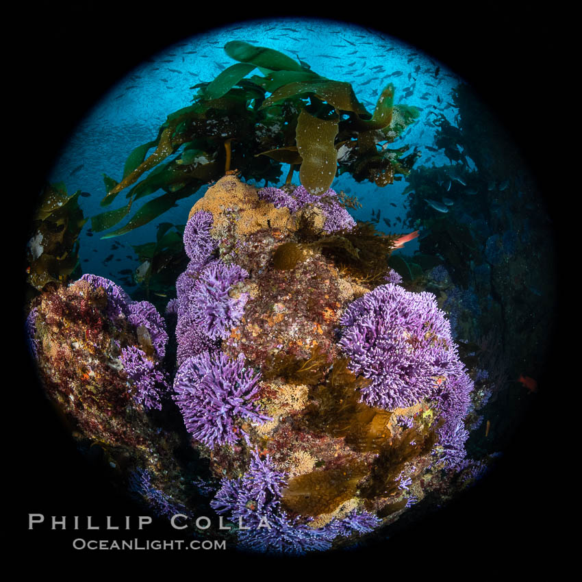
[[[205,266],[194,283],[188,314],[212,340],[226,338],[231,327],[238,325],[249,294],[242,293],[233,299],[229,290],[248,276],[240,266],[216,260]]]

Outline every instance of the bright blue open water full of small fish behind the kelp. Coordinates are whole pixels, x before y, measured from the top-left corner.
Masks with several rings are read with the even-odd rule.
[[[457,110],[451,105],[451,90],[461,79],[444,64],[415,47],[385,34],[333,21],[286,18],[248,22],[195,36],[168,47],[147,62],[137,64],[88,112],[62,151],[49,181],[63,181],[69,194],[76,190],[90,193],[90,197],[79,197],[86,217],[125,205],[125,192],[107,209],[99,205],[105,196],[103,173],[121,180],[127,155],[136,146],[155,138],[157,129],[166,121],[168,114],[190,105],[196,92],[191,87],[203,81],[212,81],[223,68],[234,64],[235,61],[223,50],[229,40],[245,40],[253,45],[277,49],[294,59],[307,62],[320,75],[351,82],[357,98],[370,113],[374,110],[377,94],[392,82],[396,88],[394,102],[414,105],[421,112],[416,123],[399,140],[390,144],[390,148],[409,144],[411,149],[407,153],[412,153],[414,145],[421,149],[422,146],[433,146],[435,127],[431,119],[435,116],[431,112],[444,114],[451,123],[455,121]],[[379,66],[383,67],[383,71]],[[398,71],[401,74],[394,75]],[[404,97],[405,89],[413,86],[412,95]],[[416,167],[449,163],[442,152],[424,149]],[[81,164],[82,168],[77,169]],[[288,167],[283,166],[282,181],[287,170]],[[294,181],[297,179],[295,174]],[[385,226],[383,220],[377,227],[385,232],[400,233],[410,230],[396,220],[397,217],[403,220],[405,217],[406,199],[402,192],[406,186],[407,182],[403,179],[378,188],[367,181],[358,184],[351,176],[344,174],[336,177],[331,187],[357,196],[363,207],[351,211],[354,218],[370,220],[372,209],[375,212],[380,210],[381,218],[388,218],[392,228]],[[184,225],[190,207],[204,192],[205,188],[201,188],[152,223],[111,240],[100,239],[107,231],[88,236],[88,221],[79,237],[83,272],[95,273],[122,284],[118,278],[119,270],[138,267],[131,245],[155,240],[155,229],[159,223]],[[138,201],[132,207],[130,216],[139,205],[152,198],[144,197]],[[122,226],[128,219],[125,218],[114,228]],[[110,254],[115,241],[124,249],[116,251],[114,260],[105,264],[103,259]],[[411,254],[416,249],[418,241],[412,241],[405,245],[403,252]],[[127,258],[128,255],[131,258]]]

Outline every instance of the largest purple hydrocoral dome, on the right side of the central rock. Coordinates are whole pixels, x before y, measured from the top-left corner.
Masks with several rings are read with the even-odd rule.
[[[431,396],[435,377],[459,370],[451,329],[431,293],[388,283],[353,301],[340,323],[351,370],[372,380],[362,389],[370,406],[412,406]]]

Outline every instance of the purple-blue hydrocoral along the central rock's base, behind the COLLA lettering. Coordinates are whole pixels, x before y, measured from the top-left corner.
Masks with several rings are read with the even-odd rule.
[[[269,455],[261,459],[257,451],[253,451],[249,470],[241,479],[223,479],[221,485],[210,505],[218,514],[228,514],[230,520],[248,528],[239,531],[238,540],[242,548],[255,552],[324,551],[338,535],[368,533],[381,523],[374,514],[357,514],[355,510],[320,528],[309,527],[299,517],[290,518],[280,501],[286,475],[277,470]]]

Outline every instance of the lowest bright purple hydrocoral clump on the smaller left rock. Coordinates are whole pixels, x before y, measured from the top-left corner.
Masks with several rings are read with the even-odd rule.
[[[123,370],[134,383],[134,400],[147,408],[162,409],[162,395],[169,389],[164,374],[144,351],[136,346],[123,348],[119,356]]]

